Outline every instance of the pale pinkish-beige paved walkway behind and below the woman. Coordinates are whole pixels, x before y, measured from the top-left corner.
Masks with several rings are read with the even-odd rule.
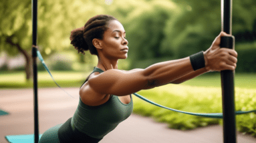
[[[78,98],[79,88],[66,88]],[[39,93],[39,133],[72,117],[78,100],[70,98],[59,88],[43,88]],[[9,112],[0,116],[0,142],[6,135],[33,134],[33,90],[0,90],[0,109]],[[223,142],[222,126],[209,126],[182,131],[167,128],[166,124],[154,122],[151,118],[132,114],[101,143],[216,143]],[[237,143],[256,143],[256,138],[237,133]]]

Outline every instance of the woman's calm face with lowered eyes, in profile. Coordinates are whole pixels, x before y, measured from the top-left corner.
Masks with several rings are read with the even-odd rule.
[[[104,32],[101,40],[102,53],[109,59],[126,59],[128,53],[128,41],[126,32],[119,21],[109,21],[108,30]]]

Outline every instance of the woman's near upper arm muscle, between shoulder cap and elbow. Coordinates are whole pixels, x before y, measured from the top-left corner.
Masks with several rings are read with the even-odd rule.
[[[88,84],[100,94],[125,96],[146,89],[148,80],[143,70],[124,72],[110,69],[88,80]]]

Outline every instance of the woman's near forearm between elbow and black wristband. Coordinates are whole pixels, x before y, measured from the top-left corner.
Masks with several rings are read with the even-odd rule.
[[[193,67],[189,57],[155,63],[144,69],[144,75],[148,77],[148,86],[162,86],[193,73]]]

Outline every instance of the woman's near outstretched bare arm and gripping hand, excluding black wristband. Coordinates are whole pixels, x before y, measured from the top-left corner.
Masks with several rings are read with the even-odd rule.
[[[233,49],[220,48],[221,33],[207,50],[205,71],[234,70],[237,53]],[[118,69],[109,69],[88,80],[88,86],[99,94],[114,94],[126,96],[140,90],[155,88],[174,82],[184,75],[193,73],[189,57],[164,61],[150,65],[146,69],[123,72]]]

